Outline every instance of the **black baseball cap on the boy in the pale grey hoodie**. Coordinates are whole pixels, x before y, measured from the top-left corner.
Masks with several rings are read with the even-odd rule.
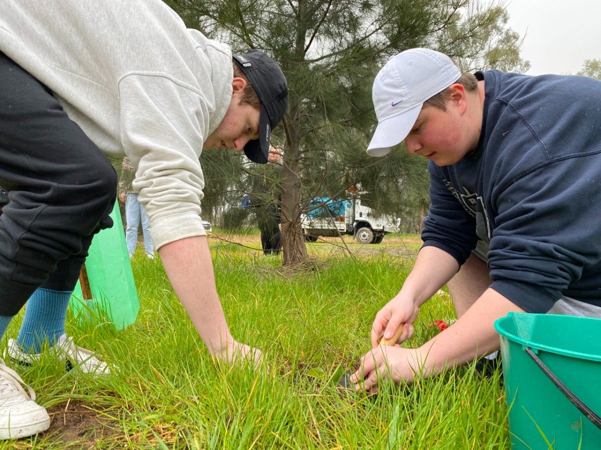
[[[281,122],[288,107],[288,83],[277,62],[261,50],[232,55],[261,101],[259,139],[249,140],[244,152],[255,163],[267,163],[271,131]]]

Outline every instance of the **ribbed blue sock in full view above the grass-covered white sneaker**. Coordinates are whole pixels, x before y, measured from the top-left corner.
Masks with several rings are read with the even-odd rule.
[[[44,342],[52,346],[65,332],[71,294],[70,291],[38,287],[29,297],[17,336],[17,344],[24,352],[40,353]]]

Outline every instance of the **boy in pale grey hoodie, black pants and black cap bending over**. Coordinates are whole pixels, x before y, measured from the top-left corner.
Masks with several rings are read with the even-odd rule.
[[[136,169],[154,245],[210,353],[258,364],[216,292],[198,157],[233,148],[266,163],[287,95],[269,56],[232,55],[159,0],[2,1],[0,336],[31,296],[23,327],[38,338],[11,341],[9,355],[35,356],[41,338],[85,371],[108,370],[64,335],[64,316],[92,236],[112,226],[117,177],[104,154],[114,154]],[[20,381],[0,364],[0,439],[49,427]]]

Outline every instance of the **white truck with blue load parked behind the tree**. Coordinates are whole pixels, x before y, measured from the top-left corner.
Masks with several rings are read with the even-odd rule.
[[[398,223],[385,215],[374,216],[373,211],[361,205],[361,199],[332,200],[316,197],[310,207],[318,205],[301,216],[305,239],[317,241],[319,236],[352,235],[361,244],[379,244],[384,235],[398,232]]]

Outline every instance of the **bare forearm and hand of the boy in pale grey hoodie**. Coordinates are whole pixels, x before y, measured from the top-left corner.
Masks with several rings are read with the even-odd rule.
[[[251,358],[258,367],[261,352],[237,342],[230,334],[215,286],[207,236],[169,242],[159,248],[159,255],[175,295],[209,352],[227,362]]]

